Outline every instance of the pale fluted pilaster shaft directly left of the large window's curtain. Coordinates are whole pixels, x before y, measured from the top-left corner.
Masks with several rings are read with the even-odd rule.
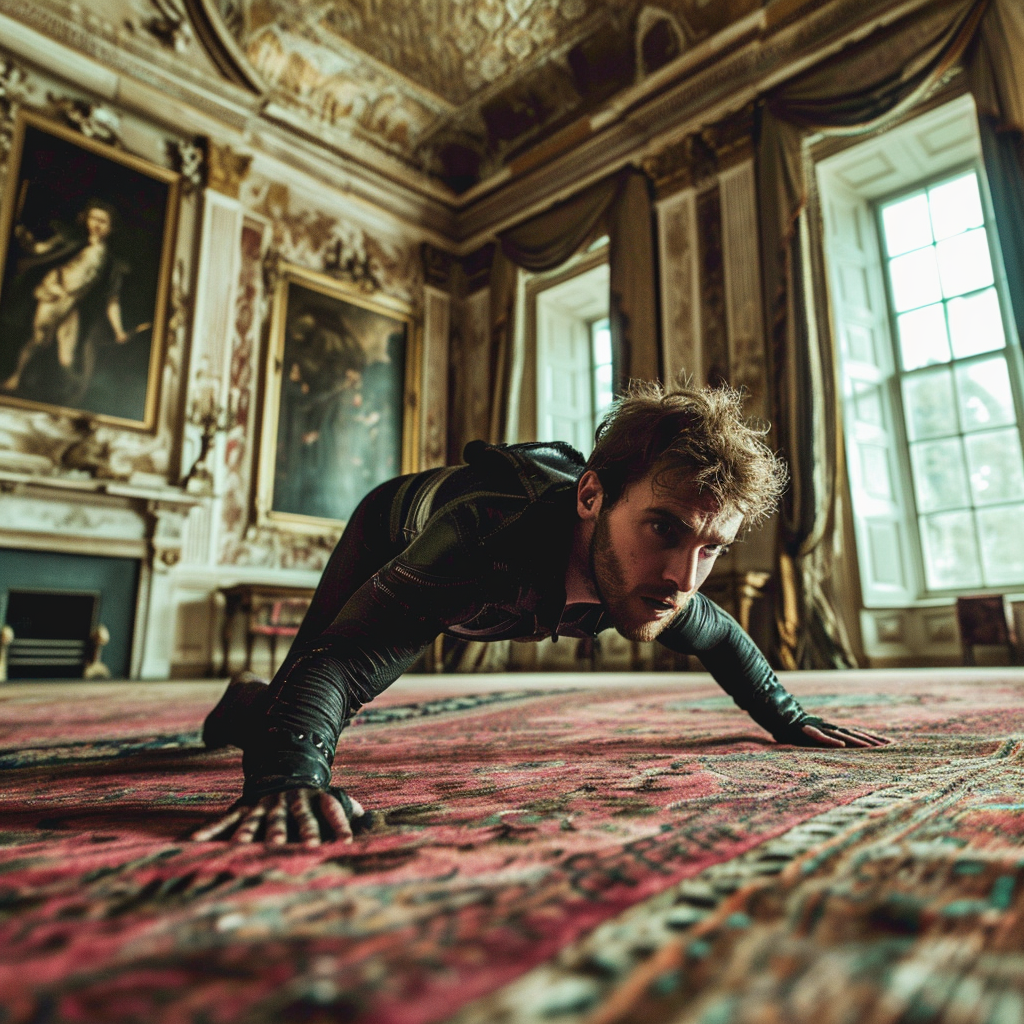
[[[731,381],[748,392],[746,415],[764,417],[767,382],[754,162],[723,171],[719,185]]]

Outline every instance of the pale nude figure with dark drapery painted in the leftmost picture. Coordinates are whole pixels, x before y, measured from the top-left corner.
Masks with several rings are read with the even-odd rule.
[[[35,308],[13,372],[0,384],[8,393],[77,404],[92,376],[93,334],[105,321],[118,344],[129,339],[122,324],[120,297],[128,267],[112,256],[109,242],[114,208],[91,200],[79,214],[78,227],[59,228],[42,242],[22,224],[14,229],[29,254],[19,262],[18,276],[12,283],[15,302],[18,292],[31,289]],[[48,349],[56,355],[56,373],[36,374],[39,380],[23,379],[34,356]]]

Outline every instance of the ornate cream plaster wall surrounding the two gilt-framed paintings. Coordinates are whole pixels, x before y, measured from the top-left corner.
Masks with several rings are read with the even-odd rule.
[[[0,404],[0,547],[138,559],[132,674],[201,676],[219,669],[219,590],[246,582],[315,586],[340,536],[340,524],[261,525],[253,512],[280,274],[289,266],[318,271],[411,311],[412,340],[429,343],[418,463],[443,461],[446,400],[438,381],[446,375],[449,330],[445,296],[425,293],[423,231],[387,205],[357,202],[326,186],[315,169],[283,159],[269,129],[264,138],[258,120],[239,116],[248,99],[220,83],[200,47],[179,53],[125,28],[141,25],[142,7],[95,0],[78,8],[66,31],[74,37],[78,26],[94,24],[94,46],[116,45],[134,74],[0,12],[13,27],[0,37],[0,175],[19,110],[83,137],[113,126],[119,152],[168,171],[181,172],[183,154],[199,162],[179,177],[154,428]],[[150,88],[154,68],[191,90],[196,104]],[[422,372],[418,365],[416,376]],[[219,422],[197,467],[202,413],[211,406]]]

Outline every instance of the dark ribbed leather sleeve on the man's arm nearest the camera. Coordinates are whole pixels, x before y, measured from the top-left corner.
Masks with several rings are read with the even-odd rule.
[[[243,799],[296,786],[326,788],[342,729],[447,626],[476,613],[481,557],[473,510],[428,523],[374,573],[319,636],[296,644],[270,684],[243,757]]]

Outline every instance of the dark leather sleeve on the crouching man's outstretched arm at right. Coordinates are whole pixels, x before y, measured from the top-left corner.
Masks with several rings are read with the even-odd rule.
[[[778,681],[764,654],[728,612],[694,594],[658,637],[671,650],[695,654],[715,682],[780,743],[801,743],[810,716]]]

